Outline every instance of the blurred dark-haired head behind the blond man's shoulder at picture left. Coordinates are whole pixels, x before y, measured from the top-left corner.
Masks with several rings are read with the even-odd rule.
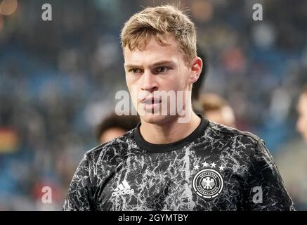
[[[97,127],[96,136],[100,143],[106,143],[119,136],[122,136],[136,127],[139,119],[137,116],[133,115],[117,115],[112,113],[111,115],[105,117],[102,122]]]

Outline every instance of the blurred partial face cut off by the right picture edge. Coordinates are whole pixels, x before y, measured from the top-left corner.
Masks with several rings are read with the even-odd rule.
[[[296,122],[296,129],[301,133],[307,142],[307,94],[302,94],[297,104],[299,118]]]

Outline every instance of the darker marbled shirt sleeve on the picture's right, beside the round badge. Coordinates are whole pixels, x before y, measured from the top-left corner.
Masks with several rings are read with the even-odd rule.
[[[272,155],[262,140],[256,143],[250,156],[244,192],[244,210],[295,210]]]

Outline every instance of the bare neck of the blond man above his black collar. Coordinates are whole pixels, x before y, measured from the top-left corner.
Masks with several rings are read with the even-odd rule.
[[[178,117],[164,124],[150,124],[141,120],[140,133],[145,141],[154,144],[173,143],[192,134],[200,125],[201,119],[192,112],[191,120],[187,123],[179,123]]]

